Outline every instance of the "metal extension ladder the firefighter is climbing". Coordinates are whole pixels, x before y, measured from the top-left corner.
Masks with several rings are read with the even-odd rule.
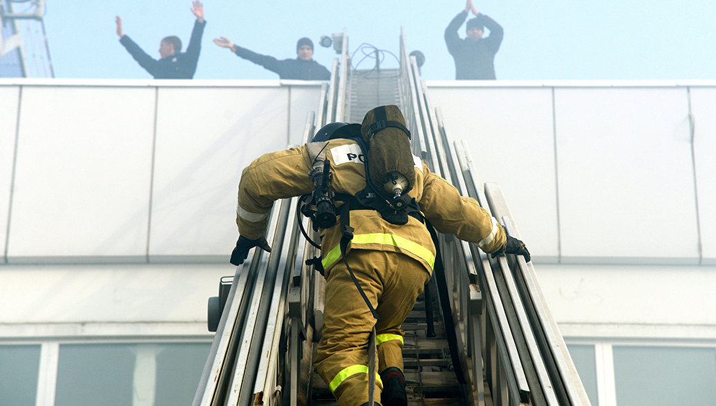
[[[482,184],[468,150],[448,141],[442,113],[419,76],[402,33],[400,69],[364,70],[351,69],[344,33],[341,57],[303,139],[326,123],[361,122],[369,109],[397,104],[413,134],[413,154],[520,238],[499,187]],[[251,260],[231,280],[222,279],[226,305],[193,405],[336,405],[311,366],[325,282],[305,264],[319,253],[301,236],[299,222],[311,227],[296,205],[296,198],[274,204],[266,232],[271,254],[252,249]],[[521,256],[490,258],[453,236],[438,238],[444,277],[435,272],[439,281],[431,281],[402,326],[408,404],[589,405],[533,264]],[[210,312],[221,302],[210,301]]]

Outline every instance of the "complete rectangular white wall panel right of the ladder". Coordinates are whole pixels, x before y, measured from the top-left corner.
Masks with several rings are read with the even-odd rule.
[[[686,89],[558,88],[555,111],[563,260],[696,262]]]

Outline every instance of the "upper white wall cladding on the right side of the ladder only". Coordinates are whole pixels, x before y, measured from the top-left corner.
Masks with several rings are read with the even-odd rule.
[[[483,182],[500,184],[533,256],[564,263],[697,264],[700,243],[702,262],[716,262],[716,214],[707,210],[716,204],[715,94],[644,84],[430,86],[450,136],[468,141]]]

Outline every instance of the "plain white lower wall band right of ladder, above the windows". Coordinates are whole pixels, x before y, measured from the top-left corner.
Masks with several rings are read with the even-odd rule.
[[[716,267],[546,264],[536,272],[560,325],[633,325],[642,337],[698,326],[716,338]]]

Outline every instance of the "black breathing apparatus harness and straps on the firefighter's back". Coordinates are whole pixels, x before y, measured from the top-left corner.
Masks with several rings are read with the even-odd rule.
[[[382,114],[381,114],[382,113]],[[408,179],[397,171],[387,172],[382,179],[383,187],[379,187],[375,184],[374,180],[370,176],[370,167],[368,159],[368,151],[370,149],[370,141],[375,134],[382,131],[383,129],[392,127],[400,129],[410,139],[410,131],[400,122],[388,121],[385,117],[384,109],[377,109],[377,122],[374,122],[369,127],[369,137],[367,142],[362,137],[353,137],[353,139],[359,145],[363,156],[366,187],[355,195],[335,193],[330,190],[332,181],[331,164],[329,160],[319,159],[320,153],[314,159],[313,167],[309,170],[309,178],[314,183],[316,189],[310,194],[304,194],[301,196],[301,204],[299,204],[299,211],[304,216],[311,218],[314,231],[318,231],[319,228],[329,229],[333,227],[337,222],[336,213],[338,212],[340,219],[340,231],[342,234],[340,249],[341,256],[348,273],[350,274],[353,283],[356,285],[358,292],[363,297],[364,302],[368,305],[368,308],[376,320],[379,320],[377,312],[370,304],[368,297],[363,292],[358,279],[353,274],[353,270],[348,264],[347,260],[347,247],[349,242],[353,239],[354,228],[350,226],[350,212],[351,210],[364,210],[373,209],[376,210],[380,216],[390,224],[403,225],[407,224],[408,216],[415,217],[420,222],[425,223],[425,219],[420,213],[420,205],[415,200],[415,197],[410,197],[405,192],[412,188],[412,185]],[[382,117],[381,117],[382,116]],[[326,148],[328,142],[321,152]],[[343,202],[336,208],[336,202]],[[302,222],[299,221],[301,233],[308,242],[316,248],[321,248],[320,244],[316,244],[303,228]],[[306,260],[306,264],[314,265],[316,270],[321,274],[324,274],[323,265],[321,264],[321,257],[314,257]]]

